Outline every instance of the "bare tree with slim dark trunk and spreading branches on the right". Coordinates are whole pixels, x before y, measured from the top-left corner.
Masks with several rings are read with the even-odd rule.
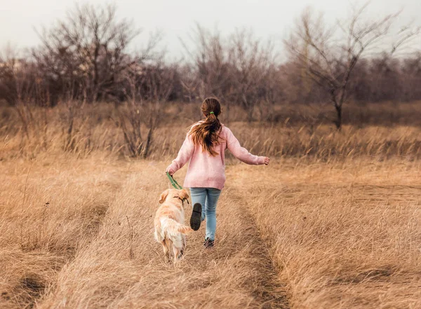
[[[351,17],[328,27],[323,15],[314,15],[306,9],[295,25],[295,30],[285,40],[290,56],[306,69],[312,80],[325,90],[333,103],[337,119],[342,125],[342,105],[349,99],[349,83],[356,64],[362,57],[385,52],[387,39],[391,39],[392,25],[399,13],[382,18],[363,18],[367,4],[354,8]],[[389,53],[406,46],[417,34],[409,27],[399,32]]]

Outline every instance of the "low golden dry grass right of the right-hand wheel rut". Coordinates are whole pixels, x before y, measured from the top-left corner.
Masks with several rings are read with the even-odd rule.
[[[420,308],[420,167],[283,160],[228,177],[248,193],[293,308]]]

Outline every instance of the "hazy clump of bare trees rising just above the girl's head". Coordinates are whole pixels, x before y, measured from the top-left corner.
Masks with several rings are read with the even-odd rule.
[[[269,77],[276,71],[271,42],[262,43],[247,29],[222,37],[218,30],[211,32],[200,25],[190,39],[193,46],[182,42],[191,61],[182,76],[189,99],[214,95],[224,101],[227,114],[230,104],[239,104],[248,110],[248,121],[253,120],[255,107],[270,109],[278,88],[276,78]],[[262,114],[263,109],[259,110]]]

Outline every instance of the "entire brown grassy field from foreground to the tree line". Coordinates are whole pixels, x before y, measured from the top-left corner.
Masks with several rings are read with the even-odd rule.
[[[58,118],[26,138],[5,119],[0,308],[421,308],[415,125],[230,122],[271,164],[229,160],[215,248],[202,226],[173,266],[153,217],[187,125],[159,128],[140,160],[107,119],[76,125],[71,150]]]

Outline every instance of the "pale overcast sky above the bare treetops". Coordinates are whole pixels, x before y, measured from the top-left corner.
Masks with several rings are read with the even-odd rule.
[[[48,27],[54,20],[65,17],[74,0],[0,0],[0,47],[11,42],[19,48],[35,46],[39,39],[34,27]],[[91,4],[104,1],[91,0]],[[257,36],[279,40],[286,36],[295,18],[301,11],[312,6],[324,11],[327,20],[347,16],[350,0],[118,0],[119,17],[133,20],[143,34],[133,42],[140,47],[147,34],[161,29],[164,44],[172,55],[182,53],[179,37],[187,33],[199,22],[205,27],[215,25],[222,33],[233,32],[236,27],[250,27]],[[359,2],[362,4],[363,2]],[[414,20],[421,25],[421,0],[373,0],[369,6],[370,15],[379,16],[402,9],[399,23]]]

